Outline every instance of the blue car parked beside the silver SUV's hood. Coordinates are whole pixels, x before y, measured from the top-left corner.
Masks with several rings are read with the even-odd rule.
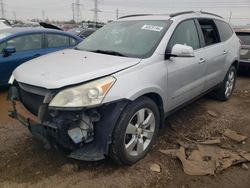
[[[11,28],[0,30],[0,86],[8,80],[16,67],[39,56],[73,48],[80,37],[54,29]]]

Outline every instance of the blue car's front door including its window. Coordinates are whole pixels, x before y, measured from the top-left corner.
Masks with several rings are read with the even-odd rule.
[[[0,48],[15,47],[16,52],[4,57],[0,52],[0,84],[7,84],[12,72],[22,63],[44,55],[43,34],[27,34],[9,39]]]

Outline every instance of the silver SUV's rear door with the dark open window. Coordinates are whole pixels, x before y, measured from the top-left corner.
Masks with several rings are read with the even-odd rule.
[[[228,49],[225,43],[221,42],[213,19],[198,19],[197,23],[202,36],[202,51],[207,66],[205,90],[208,90],[223,81]]]

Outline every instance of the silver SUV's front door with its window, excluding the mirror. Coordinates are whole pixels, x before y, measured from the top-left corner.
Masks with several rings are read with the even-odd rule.
[[[194,20],[180,23],[167,47],[171,52],[175,44],[193,47],[194,57],[171,57],[168,64],[168,104],[172,110],[204,91],[206,61]]]

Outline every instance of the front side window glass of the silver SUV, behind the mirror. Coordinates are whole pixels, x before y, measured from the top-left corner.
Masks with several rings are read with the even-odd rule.
[[[168,48],[172,49],[175,44],[185,44],[193,47],[194,50],[200,48],[199,36],[193,20],[184,21],[177,26]]]

